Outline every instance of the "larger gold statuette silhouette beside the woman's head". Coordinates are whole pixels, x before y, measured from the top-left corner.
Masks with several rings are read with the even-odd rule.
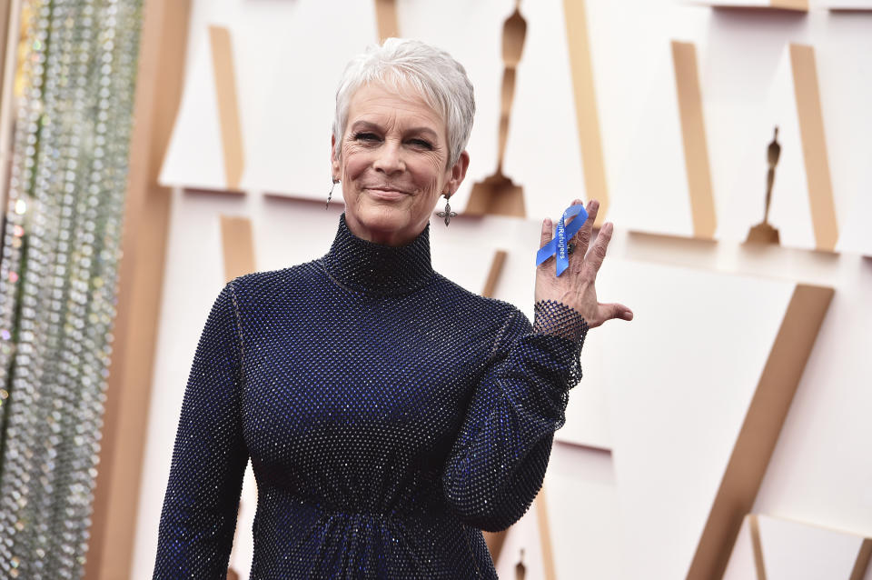
[[[515,69],[520,63],[524,50],[524,37],[527,35],[527,22],[520,15],[520,0],[515,4],[502,28],[502,97],[500,103],[500,135],[497,172],[475,185],[472,185],[470,201],[466,205],[466,215],[513,215],[524,217],[524,190],[520,185],[502,173],[502,160],[506,152],[509,136],[511,103],[515,97]]]

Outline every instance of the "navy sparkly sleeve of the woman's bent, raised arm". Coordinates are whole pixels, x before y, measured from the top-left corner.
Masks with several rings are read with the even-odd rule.
[[[499,531],[530,508],[581,378],[586,331],[579,313],[553,302],[536,305],[532,328],[517,310],[503,325],[442,476],[466,524]]]

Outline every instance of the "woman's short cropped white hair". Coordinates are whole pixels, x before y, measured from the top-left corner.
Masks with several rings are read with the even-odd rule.
[[[337,152],[348,122],[352,96],[363,85],[379,83],[397,90],[421,94],[424,101],[445,122],[451,167],[470,140],[475,97],[466,69],[444,50],[409,38],[388,38],[381,45],[370,45],[345,66],[336,91],[336,116],[333,136]]]

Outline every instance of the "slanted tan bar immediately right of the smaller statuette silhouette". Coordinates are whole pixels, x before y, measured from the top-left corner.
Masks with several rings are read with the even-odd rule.
[[[815,241],[818,250],[832,252],[838,240],[838,224],[829,175],[824,117],[817,86],[815,49],[808,45],[790,45],[790,65],[793,69],[799,133],[802,135],[802,156],[806,165],[808,203],[815,229]]]

